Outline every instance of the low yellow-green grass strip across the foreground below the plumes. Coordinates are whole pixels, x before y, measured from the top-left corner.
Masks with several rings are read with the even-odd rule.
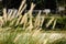
[[[66,44],[66,33],[43,32],[41,30],[23,31],[21,28],[0,28],[0,44]],[[64,40],[64,41],[63,41]]]

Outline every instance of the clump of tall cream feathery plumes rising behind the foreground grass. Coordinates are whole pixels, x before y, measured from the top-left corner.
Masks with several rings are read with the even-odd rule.
[[[42,25],[45,21],[45,15],[41,15],[41,11],[38,11],[38,13],[33,16],[33,9],[34,9],[35,4],[31,3],[31,9],[28,12],[24,12],[26,9],[26,3],[25,0],[22,1],[19,10],[16,11],[15,9],[12,9],[10,11],[7,12],[7,9],[3,9],[3,15],[0,20],[0,26],[9,26],[9,28],[16,28],[16,26],[21,26],[23,30],[33,30],[33,29],[42,29]],[[52,23],[56,22],[55,18],[51,18],[51,20],[45,23],[46,28],[48,28]],[[55,29],[56,23],[54,23],[54,25],[52,26],[52,29]]]

